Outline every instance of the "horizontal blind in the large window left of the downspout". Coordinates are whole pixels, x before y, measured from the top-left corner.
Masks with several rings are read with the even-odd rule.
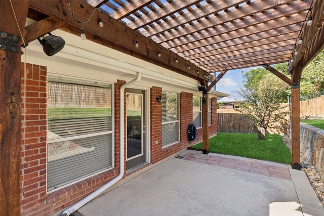
[[[48,191],[112,167],[109,84],[49,76]]]

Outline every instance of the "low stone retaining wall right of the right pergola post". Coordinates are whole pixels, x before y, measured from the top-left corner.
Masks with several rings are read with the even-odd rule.
[[[324,180],[324,130],[300,123],[300,149]]]

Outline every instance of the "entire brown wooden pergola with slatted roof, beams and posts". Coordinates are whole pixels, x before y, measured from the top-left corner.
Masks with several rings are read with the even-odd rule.
[[[6,0],[0,14],[1,212],[20,212],[21,46],[57,28],[83,28],[89,40],[196,79],[207,99],[228,70],[264,66],[292,87],[292,164],[300,168],[299,83],[324,48],[324,1]],[[27,17],[37,22],[25,26]],[[282,62],[291,78],[270,66]],[[203,131],[208,153],[207,103]]]

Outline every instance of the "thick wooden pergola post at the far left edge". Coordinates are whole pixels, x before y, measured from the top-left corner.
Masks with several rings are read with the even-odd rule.
[[[11,5],[12,3],[12,5]],[[20,103],[21,40],[28,12],[28,1],[0,1],[1,44],[13,49],[0,49],[0,214],[20,215]],[[16,20],[17,19],[17,20]],[[17,24],[18,22],[18,24]],[[20,31],[19,31],[20,29]],[[6,32],[6,35],[4,35]],[[16,36],[14,38],[10,34]],[[2,47],[3,48],[3,47]]]

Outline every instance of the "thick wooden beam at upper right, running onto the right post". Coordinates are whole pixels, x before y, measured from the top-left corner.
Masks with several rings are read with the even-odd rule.
[[[324,1],[315,1],[311,10],[311,16],[312,16],[312,25],[307,26],[305,24],[304,30],[301,35],[303,43],[301,45],[297,44],[298,55],[294,55],[294,62],[293,64],[290,64],[290,72],[294,70],[294,68],[299,63],[300,59],[304,56],[304,53],[306,52],[308,46],[311,44],[319,28],[321,28],[321,26],[324,23]],[[305,65],[302,65],[302,67],[304,66]]]

